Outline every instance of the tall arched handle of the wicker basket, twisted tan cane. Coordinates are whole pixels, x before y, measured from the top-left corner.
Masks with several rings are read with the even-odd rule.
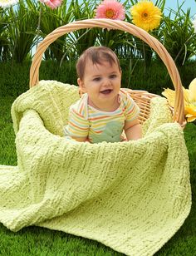
[[[39,82],[39,67],[42,62],[43,53],[47,50],[47,47],[58,37],[63,36],[66,33],[84,29],[84,28],[108,28],[108,29],[117,29],[124,32],[129,32],[135,37],[139,37],[142,41],[146,42],[149,47],[151,47],[154,52],[156,52],[161,58],[162,62],[166,66],[171,81],[174,85],[175,90],[175,105],[174,105],[174,121],[177,121],[180,125],[184,124],[184,92],[182,82],[179,76],[179,71],[174,63],[173,58],[169,55],[169,52],[163,46],[158,39],[151,36],[148,32],[143,30],[140,27],[136,27],[130,22],[120,21],[120,20],[111,20],[107,18],[90,18],[80,21],[74,21],[67,23],[61,27],[57,27],[51,33],[45,37],[42,42],[39,43],[35,55],[32,59],[32,66],[30,68],[30,84],[29,86],[36,86]]]

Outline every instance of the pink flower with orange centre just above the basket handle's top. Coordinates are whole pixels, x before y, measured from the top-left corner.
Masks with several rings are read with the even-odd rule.
[[[96,8],[96,18],[110,18],[112,20],[124,20],[125,8],[116,0],[104,0]]]

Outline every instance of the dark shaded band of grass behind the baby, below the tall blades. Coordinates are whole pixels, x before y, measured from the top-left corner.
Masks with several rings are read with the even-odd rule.
[[[14,64],[12,62],[0,62],[0,96],[17,97],[27,91],[29,84],[29,69],[31,62]],[[56,80],[76,85],[76,62],[63,62],[59,66],[57,62],[42,62],[39,71],[40,80]],[[133,60],[120,60],[122,67],[122,87],[136,90],[146,90],[155,94],[161,94],[164,88],[174,89],[168,71],[163,62],[154,61],[145,71],[144,62]],[[188,88],[189,83],[196,74],[196,62],[179,66],[179,74],[183,86]]]

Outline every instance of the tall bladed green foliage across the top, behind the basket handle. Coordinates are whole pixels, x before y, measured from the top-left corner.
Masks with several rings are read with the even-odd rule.
[[[137,0],[126,0],[125,21],[132,22],[130,7]],[[56,27],[76,20],[92,18],[100,0],[64,0],[61,7],[51,10],[37,0],[19,0],[15,7],[0,9],[0,60],[7,62],[24,62],[31,59],[35,46]],[[157,0],[155,4],[164,13],[165,0]],[[184,65],[196,52],[196,36],[191,22],[190,10],[183,11],[182,5],[169,15],[163,14],[160,26],[151,32],[169,51],[178,66]],[[56,60],[61,63],[76,59],[87,47],[105,45],[111,47],[120,58],[143,59],[145,67],[153,58],[158,58],[154,52],[140,39],[126,32],[92,28],[78,30],[61,37],[52,43],[45,52],[46,60]],[[145,47],[144,47],[145,46]]]

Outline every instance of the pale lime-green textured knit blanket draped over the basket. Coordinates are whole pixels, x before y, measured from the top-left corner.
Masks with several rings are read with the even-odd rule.
[[[154,98],[137,141],[89,144],[63,137],[76,86],[57,81],[12,105],[17,166],[0,165],[0,222],[95,239],[127,255],[153,255],[189,214],[183,130]]]

